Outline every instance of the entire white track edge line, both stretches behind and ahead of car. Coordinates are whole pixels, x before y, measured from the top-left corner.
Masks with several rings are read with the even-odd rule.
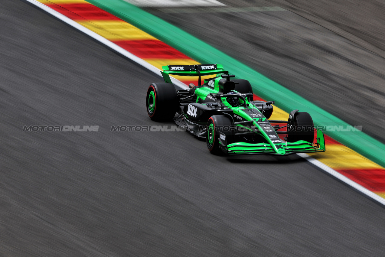
[[[51,15],[55,16],[56,18],[58,18],[58,19],[62,20],[63,22],[71,25],[72,27],[80,30],[81,32],[84,32],[85,34],[89,35],[90,37],[93,37],[94,39],[98,40],[99,42],[105,44],[107,47],[112,48],[116,52],[121,53],[125,57],[130,58],[134,62],[136,62],[136,63],[142,65],[143,67],[151,70],[152,72],[156,73],[157,75],[160,75],[160,70],[157,67],[151,65],[150,63],[148,63],[145,60],[137,57],[136,55],[133,55],[132,53],[128,52],[127,50],[124,50],[123,48],[121,48],[118,45],[112,43],[111,41],[105,39],[104,37],[98,35],[97,33],[89,30],[88,28],[83,27],[82,25],[80,25],[79,23],[75,22],[74,20],[71,20],[70,18],[62,15],[59,12],[56,12],[52,8],[42,4],[40,2],[37,2],[36,0],[25,0],[25,1],[30,2],[30,3],[32,3],[33,5],[36,5],[39,8],[42,8],[44,11],[50,13]],[[181,81],[179,81],[179,80],[177,80],[175,78],[171,78],[171,80],[172,80],[172,83],[174,85],[177,85],[178,87],[180,87],[182,89],[187,88],[187,85],[184,84],[183,82],[181,82]],[[297,154],[297,155],[299,155],[300,157],[304,158],[305,160],[307,160],[311,164],[319,167],[320,169],[325,170],[325,172],[327,172],[328,174],[332,175],[333,177],[336,177],[337,179],[341,180],[342,182],[346,183],[347,185],[350,185],[354,189],[357,189],[362,194],[365,194],[368,197],[372,198],[373,200],[379,202],[380,204],[385,205],[385,199],[384,198],[380,197],[379,195],[374,194],[373,192],[371,192],[370,190],[366,189],[362,185],[359,185],[356,182],[354,182],[353,180],[348,179],[344,175],[336,172],[335,170],[331,169],[329,166],[323,164],[319,160],[316,160],[316,159],[314,159],[313,157],[310,157],[307,154]]]

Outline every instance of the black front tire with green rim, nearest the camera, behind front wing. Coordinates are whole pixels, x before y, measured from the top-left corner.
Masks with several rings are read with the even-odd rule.
[[[234,125],[230,118],[224,115],[213,115],[209,118],[207,122],[206,144],[211,154],[224,154],[219,147],[218,137],[220,133],[223,133],[226,137],[227,144],[231,144],[233,141],[233,127]]]

